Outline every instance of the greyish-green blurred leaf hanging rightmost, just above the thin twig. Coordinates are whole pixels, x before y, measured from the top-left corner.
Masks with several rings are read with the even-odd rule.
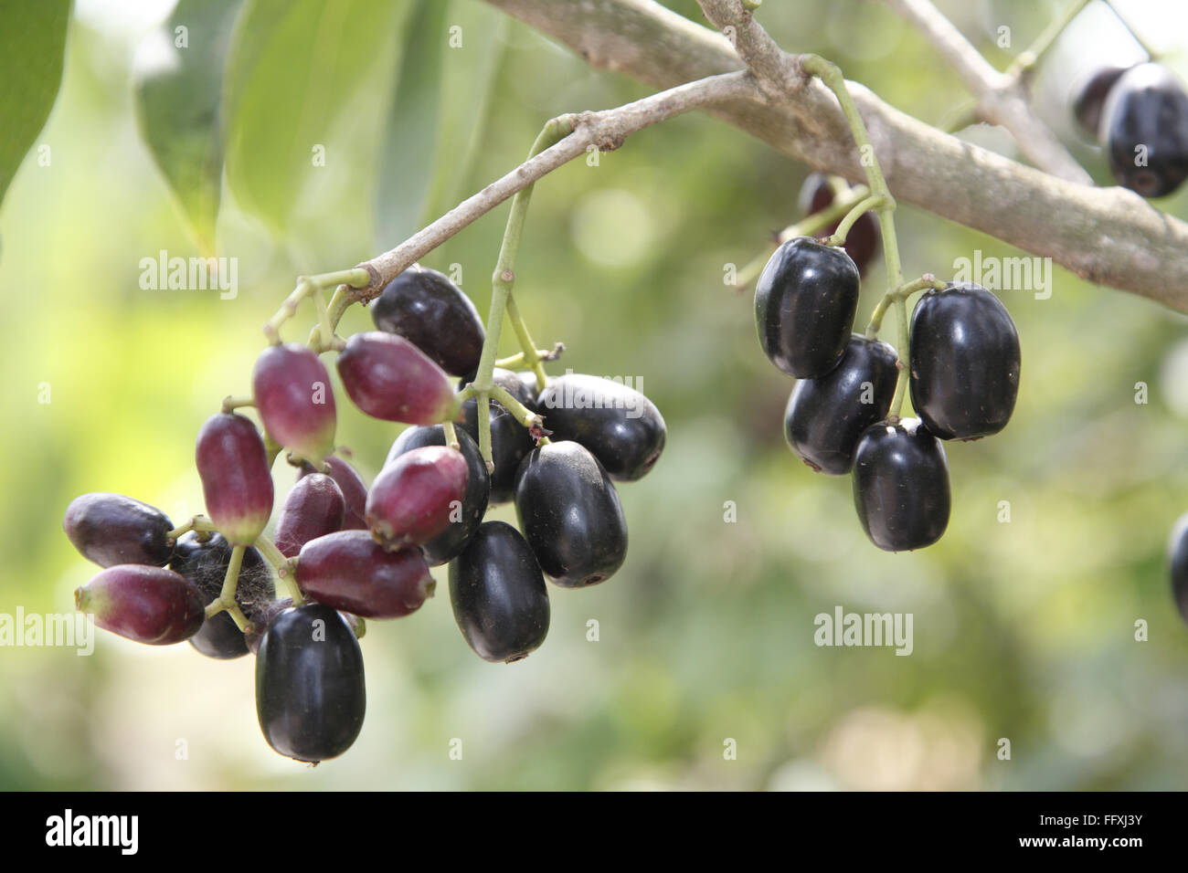
[[[375,233],[390,248],[457,204],[482,141],[507,17],[421,0],[405,32],[380,151]]]

